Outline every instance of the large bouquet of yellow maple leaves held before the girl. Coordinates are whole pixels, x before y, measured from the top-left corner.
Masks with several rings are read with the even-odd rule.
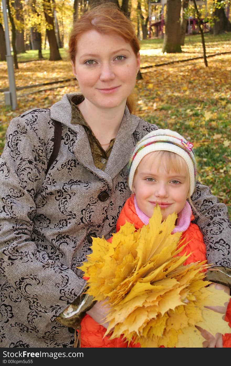
[[[111,339],[124,335],[141,347],[203,347],[195,325],[212,335],[230,332],[223,314],[205,307],[229,300],[203,280],[208,265],[183,265],[189,255],[177,255],[187,243],[178,249],[181,233],[171,234],[176,217],[162,222],[156,207],[137,231],[126,223],[112,243],[93,238],[93,253],[80,268],[89,277],[86,292],[109,305],[105,335]]]

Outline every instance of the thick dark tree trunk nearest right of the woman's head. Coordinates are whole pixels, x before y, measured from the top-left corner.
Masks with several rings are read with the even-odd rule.
[[[181,0],[167,0],[162,52],[181,52]]]

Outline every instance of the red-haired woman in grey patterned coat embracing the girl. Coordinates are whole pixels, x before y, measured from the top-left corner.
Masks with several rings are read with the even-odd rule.
[[[115,232],[130,195],[132,149],[157,128],[131,115],[139,44],[121,12],[101,5],[82,16],[69,50],[82,94],[13,119],[1,156],[1,347],[73,346],[73,328],[93,305],[76,267],[91,253],[92,237]],[[46,174],[54,120],[62,140]],[[226,206],[199,182],[192,200],[208,261],[230,266]],[[89,310],[97,321],[101,309]]]

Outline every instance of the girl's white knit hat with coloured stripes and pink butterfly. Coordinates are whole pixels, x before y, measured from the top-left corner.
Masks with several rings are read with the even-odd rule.
[[[153,151],[170,151],[180,155],[186,162],[189,169],[190,187],[189,194],[193,194],[196,184],[196,160],[192,150],[193,144],[186,141],[184,137],[172,130],[158,129],[145,135],[135,146],[130,159],[130,172],[128,176],[128,185],[132,190],[132,184],[136,168],[140,161],[147,154]]]

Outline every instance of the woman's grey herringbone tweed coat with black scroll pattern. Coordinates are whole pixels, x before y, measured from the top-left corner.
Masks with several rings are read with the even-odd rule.
[[[130,196],[132,149],[157,128],[127,107],[105,171],[93,163],[85,129],[71,124],[65,94],[50,111],[33,109],[9,124],[0,159],[0,347],[72,347],[73,329],[59,315],[82,292],[76,269],[91,253],[92,236],[107,239]],[[54,123],[62,124],[57,159],[47,175]],[[208,261],[230,266],[226,206],[197,182],[194,203]]]

